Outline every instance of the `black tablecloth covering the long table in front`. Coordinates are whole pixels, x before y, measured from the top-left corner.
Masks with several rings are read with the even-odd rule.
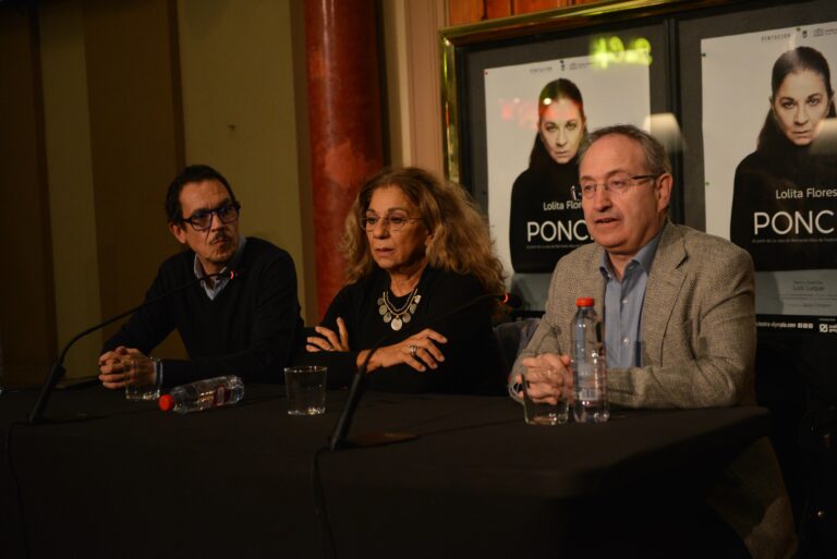
[[[769,426],[759,408],[527,426],[507,398],[367,393],[353,434],[418,438],[320,452],[324,524],[312,464],[343,392],[317,417],[267,385],[180,416],[89,387],[24,425],[34,400],[0,397],[4,558],[698,556],[706,489]]]

